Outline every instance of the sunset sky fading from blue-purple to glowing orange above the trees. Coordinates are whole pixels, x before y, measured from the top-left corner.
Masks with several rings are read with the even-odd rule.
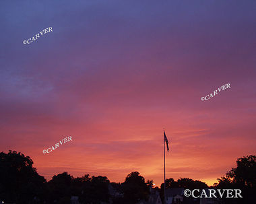
[[[160,186],[165,128],[166,178],[214,184],[256,154],[255,8],[1,1],[0,151],[30,156],[47,180],[67,171],[123,182],[137,171]]]

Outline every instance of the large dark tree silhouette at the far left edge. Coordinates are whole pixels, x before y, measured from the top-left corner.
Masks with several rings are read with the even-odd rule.
[[[9,150],[0,153],[0,198],[10,203],[42,199],[46,180],[39,176],[30,157]]]

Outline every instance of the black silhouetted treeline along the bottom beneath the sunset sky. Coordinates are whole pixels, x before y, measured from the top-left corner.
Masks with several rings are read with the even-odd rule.
[[[191,178],[166,179],[166,189],[207,189],[205,182]],[[256,193],[256,156],[238,158],[236,168],[218,178],[211,186],[216,189],[241,189],[243,199],[221,199],[221,203],[250,203]],[[15,204],[65,204],[71,197],[79,203],[133,204],[147,201],[151,190],[160,193],[163,201],[164,184],[154,187],[153,180],[145,180],[139,172],[131,172],[123,183],[110,182],[106,176],[74,178],[67,172],[54,175],[49,182],[36,172],[29,156],[11,151],[0,153],[0,203]]]

